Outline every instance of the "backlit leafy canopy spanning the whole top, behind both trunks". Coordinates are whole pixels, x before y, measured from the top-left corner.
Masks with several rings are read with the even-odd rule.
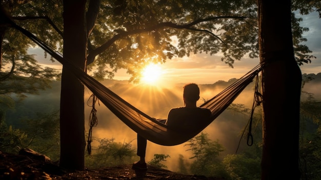
[[[293,11],[299,9],[300,13],[312,12],[319,6],[316,2],[303,5],[294,1],[293,4]],[[62,2],[44,1],[3,4],[15,22],[60,52],[62,6]],[[101,1],[100,5],[87,7],[88,65],[91,64],[88,70],[97,78],[112,78],[118,69],[124,68],[132,75],[131,81],[137,82],[141,76],[139,71],[146,64],[165,63],[191,53],[212,55],[222,51],[222,61],[231,67],[235,59],[247,53],[251,58],[258,57],[255,1],[190,1],[187,4],[122,0]],[[96,7],[99,7],[97,16],[90,14]],[[298,59],[303,59],[311,51],[300,45],[306,41],[302,33],[308,31],[299,26],[300,21],[303,19],[293,15],[293,42]],[[21,35],[12,37],[23,39],[21,49],[33,45]],[[177,44],[173,44],[176,38]],[[6,36],[5,41],[7,39]]]

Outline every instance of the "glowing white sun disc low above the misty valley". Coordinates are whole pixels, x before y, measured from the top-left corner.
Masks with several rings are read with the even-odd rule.
[[[162,76],[162,68],[157,64],[149,64],[142,71],[142,81],[146,84],[157,84]]]

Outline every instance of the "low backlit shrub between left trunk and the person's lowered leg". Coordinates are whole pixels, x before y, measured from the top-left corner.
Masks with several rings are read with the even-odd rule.
[[[92,154],[86,155],[86,165],[90,168],[116,166],[132,163],[135,156],[135,149],[132,148],[131,141],[116,143],[114,138],[94,138],[98,147],[92,147]]]

